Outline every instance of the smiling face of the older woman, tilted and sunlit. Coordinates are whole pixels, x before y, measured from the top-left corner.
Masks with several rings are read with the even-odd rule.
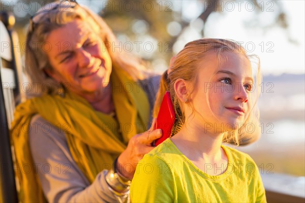
[[[52,70],[49,76],[79,95],[103,91],[112,61],[97,31],[77,19],[50,32],[46,42]]]

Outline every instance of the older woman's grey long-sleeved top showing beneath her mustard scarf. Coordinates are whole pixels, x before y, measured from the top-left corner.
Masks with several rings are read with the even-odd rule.
[[[140,81],[150,105],[150,121],[160,75],[150,75]],[[114,195],[100,172],[90,184],[72,158],[66,136],[57,126],[51,125],[40,115],[31,120],[29,145],[35,167],[49,202],[126,202],[129,198]]]

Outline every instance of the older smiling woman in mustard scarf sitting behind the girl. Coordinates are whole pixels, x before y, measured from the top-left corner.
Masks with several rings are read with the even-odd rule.
[[[17,107],[11,131],[21,201],[129,201],[135,166],[162,134],[146,131],[160,77],[112,52],[115,43],[75,2],[31,19],[25,67],[37,94]]]

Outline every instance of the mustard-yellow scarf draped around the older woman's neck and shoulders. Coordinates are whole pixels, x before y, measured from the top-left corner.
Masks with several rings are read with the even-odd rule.
[[[33,115],[39,114],[64,130],[75,162],[92,183],[124,151],[131,137],[146,130],[149,121],[148,99],[138,83],[125,72],[113,70],[111,84],[117,120],[95,111],[85,99],[72,93],[65,97],[44,95],[20,104],[11,130],[16,164],[33,165],[28,131]],[[19,201],[45,201],[38,175],[32,172],[16,173],[20,182]]]

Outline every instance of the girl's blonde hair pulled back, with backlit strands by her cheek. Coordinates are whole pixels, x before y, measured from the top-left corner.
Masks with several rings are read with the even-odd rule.
[[[254,142],[260,137],[260,128],[259,128],[259,111],[257,108],[257,98],[260,93],[260,87],[258,84],[261,82],[261,74],[260,74],[260,61],[256,55],[248,55],[246,50],[231,40],[224,40],[224,39],[199,39],[193,42],[186,44],[184,49],[182,49],[176,56],[175,61],[173,63],[171,72],[168,75],[168,87],[167,90],[170,91],[173,105],[175,107],[176,113],[176,122],[174,124],[173,133],[175,134],[179,131],[180,127],[184,124],[185,112],[181,108],[182,104],[181,101],[177,98],[174,90],[174,83],[177,79],[181,78],[185,81],[191,82],[191,91],[188,95],[191,95],[195,91],[198,90],[197,83],[198,83],[198,63],[201,62],[209,53],[214,52],[217,54],[219,62],[223,62],[226,60],[223,56],[223,52],[233,52],[237,54],[241,54],[246,56],[249,61],[251,59],[257,59],[257,70],[256,70],[256,79],[254,84],[254,92],[251,94],[251,99],[254,101],[252,103],[252,109],[246,119],[245,123],[238,129],[233,130],[232,132],[225,132],[223,142],[231,143],[235,145],[241,144],[248,144],[250,142]],[[207,61],[208,62],[208,61]],[[163,81],[165,82],[165,81]],[[166,89],[165,89],[166,90]],[[160,91],[158,95],[156,104],[160,103],[165,91]],[[191,103],[187,103],[187,105],[191,105]],[[194,108],[193,113],[194,113]],[[155,110],[156,112],[156,110]],[[251,124],[251,131],[249,129],[249,124]],[[248,139],[248,140],[247,140]]]

